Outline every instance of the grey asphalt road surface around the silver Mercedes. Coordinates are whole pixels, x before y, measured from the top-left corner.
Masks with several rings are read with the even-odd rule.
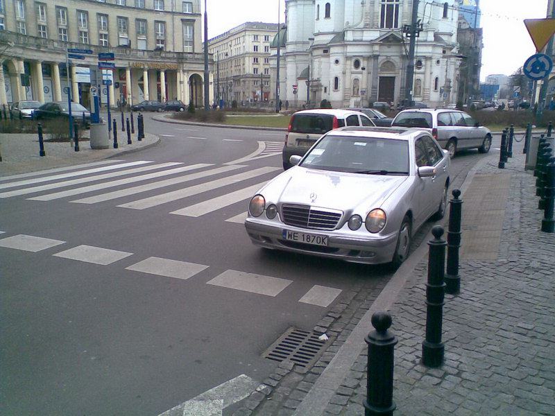
[[[240,219],[245,195],[280,173],[282,132],[176,125],[149,115],[146,130],[160,144],[91,167],[100,172],[80,168],[15,185],[27,178],[0,178],[0,239],[55,240],[20,237],[0,247],[3,414],[158,415],[241,374],[259,383],[276,365],[261,354],[284,331],[311,330],[357,284],[379,288],[391,277],[382,266],[250,244]],[[240,160],[259,148],[264,157]],[[468,151],[453,159],[454,186],[481,157]],[[148,163],[109,168],[140,161]],[[148,167],[169,162],[176,164]],[[206,166],[163,173],[194,164]],[[121,174],[137,168],[145,170]],[[114,173],[120,176],[94,176]],[[160,175],[130,182],[153,173]],[[161,187],[184,175],[191,175],[187,182]],[[88,181],[60,186],[80,178]],[[45,185],[51,188],[31,189]],[[144,185],[150,188],[135,188]],[[94,199],[114,191],[122,193]],[[26,251],[37,250],[33,243],[44,246]],[[264,276],[259,286],[252,274]],[[339,296],[325,306],[300,302],[315,285]]]

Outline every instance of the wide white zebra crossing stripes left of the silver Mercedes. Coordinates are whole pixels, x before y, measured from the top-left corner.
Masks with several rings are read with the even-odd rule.
[[[271,148],[264,149],[266,152]],[[35,175],[1,177],[0,198],[22,196],[42,202],[67,198],[69,203],[87,205],[111,202],[115,207],[138,211],[159,206],[163,209],[169,202],[178,202],[183,206],[176,209],[172,205],[168,214],[197,218],[247,201],[278,171],[278,167],[251,168],[246,164],[103,161],[75,166],[74,170],[55,168]],[[253,184],[254,180],[257,181]],[[237,184],[243,185],[241,189],[237,189]],[[201,202],[187,203],[187,198],[209,191],[219,191],[223,195],[214,197],[211,194]],[[244,218],[246,212],[241,209],[226,221],[243,223]]]

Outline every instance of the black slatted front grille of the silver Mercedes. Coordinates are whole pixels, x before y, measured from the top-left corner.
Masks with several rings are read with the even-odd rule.
[[[335,229],[343,213],[316,209],[309,205],[283,205],[282,219],[287,225],[310,229]]]

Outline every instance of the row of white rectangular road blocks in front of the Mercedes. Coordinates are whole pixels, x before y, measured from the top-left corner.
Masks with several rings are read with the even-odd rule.
[[[32,253],[54,250],[55,248],[58,250],[59,246],[66,244],[66,241],[27,234],[16,234],[0,238],[0,250],[20,250]],[[112,265],[135,256],[135,254],[131,252],[84,244],[66,248],[65,250],[55,252],[51,255],[53,257],[65,259],[66,261],[80,261],[98,266]],[[200,272],[204,272],[207,269],[210,271],[210,266],[205,264],[191,263],[176,259],[164,259],[162,257],[146,257],[146,259],[135,261],[129,266],[124,267],[124,270],[128,270],[129,272],[169,277],[179,279],[180,281],[194,279]],[[282,279],[280,277],[243,272],[241,270],[225,270],[212,277],[206,284],[275,298],[282,294],[291,284],[294,284],[294,281]],[[340,294],[341,289],[339,288],[314,285],[307,293],[298,299],[298,302],[310,304],[312,306],[327,307],[330,306]]]

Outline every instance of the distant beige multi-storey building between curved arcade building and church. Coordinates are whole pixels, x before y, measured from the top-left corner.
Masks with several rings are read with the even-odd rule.
[[[270,42],[276,33],[277,24],[248,21],[208,41],[216,101],[270,100]]]

